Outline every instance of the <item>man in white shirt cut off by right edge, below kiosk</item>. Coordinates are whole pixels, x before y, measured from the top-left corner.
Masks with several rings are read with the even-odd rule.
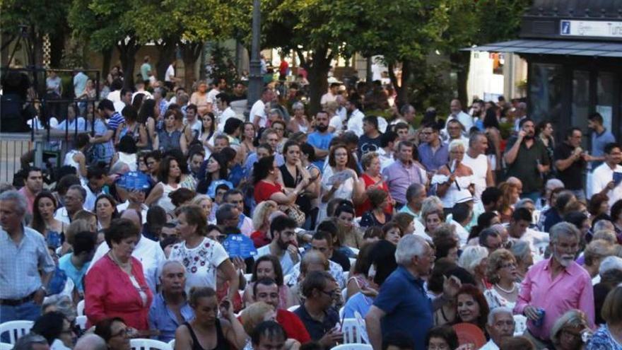
[[[619,144],[606,144],[605,161],[592,173],[592,192],[609,197],[609,206],[622,199],[622,147]],[[621,180],[618,180],[618,177]]]

